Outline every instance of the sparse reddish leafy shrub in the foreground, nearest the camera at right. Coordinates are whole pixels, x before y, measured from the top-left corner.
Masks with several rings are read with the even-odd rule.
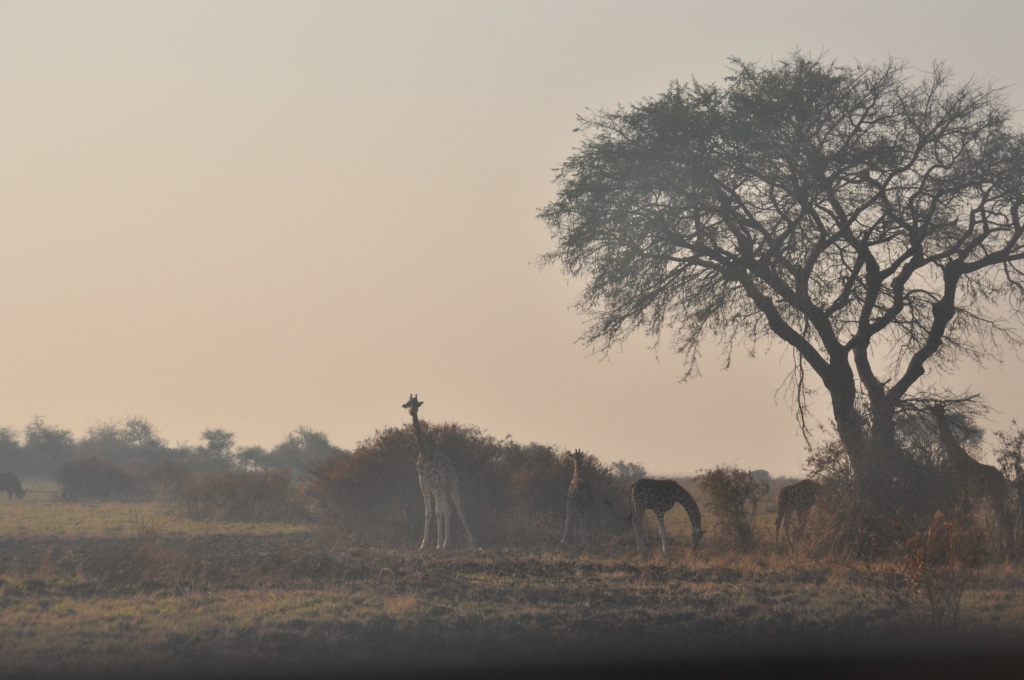
[[[871,583],[910,623],[956,627],[961,599],[981,561],[976,527],[959,512],[936,512],[927,528],[908,537],[897,520],[893,524],[902,539],[898,554],[894,563],[869,571]]]

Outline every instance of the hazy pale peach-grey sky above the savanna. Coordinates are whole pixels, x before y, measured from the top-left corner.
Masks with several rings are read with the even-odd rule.
[[[416,392],[655,473],[797,474],[781,349],[710,346],[680,384],[646,338],[574,344],[580,284],[532,262],[577,114],[796,47],[942,59],[1020,107],[1022,27],[1009,0],[0,2],[0,425],[352,448]],[[1024,419],[1012,353],[955,384]]]

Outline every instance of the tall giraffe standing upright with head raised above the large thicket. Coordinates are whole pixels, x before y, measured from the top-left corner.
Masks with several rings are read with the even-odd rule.
[[[455,502],[455,509],[459,511],[459,519],[466,527],[466,535],[469,537],[469,545],[476,547],[473,543],[473,534],[469,530],[466,522],[466,515],[462,511],[462,501],[459,497],[459,477],[455,474],[452,461],[441,453],[434,444],[430,434],[423,430],[418,416],[420,407],[424,401],[418,400],[419,395],[409,395],[409,401],[401,405],[402,409],[409,411],[413,417],[413,432],[416,434],[416,447],[420,450],[420,457],[416,459],[416,471],[420,474],[420,491],[423,492],[423,543],[420,550],[427,547],[430,539],[430,497],[433,496],[436,504],[434,514],[437,515],[437,548],[447,548],[449,534],[452,528],[452,507],[449,505],[447,497],[451,496]],[[441,543],[441,534],[444,535],[444,542]]]

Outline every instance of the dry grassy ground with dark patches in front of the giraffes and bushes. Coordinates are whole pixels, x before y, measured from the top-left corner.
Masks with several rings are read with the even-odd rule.
[[[771,516],[762,518],[771,526]],[[869,569],[709,535],[421,554],[329,530],[190,522],[159,504],[0,499],[0,675],[273,673],[725,654],[1013,649],[1024,570],[990,562],[956,627],[908,622]],[[649,545],[656,545],[652,530]]]

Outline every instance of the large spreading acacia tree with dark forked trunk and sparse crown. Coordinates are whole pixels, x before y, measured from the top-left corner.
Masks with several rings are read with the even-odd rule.
[[[810,369],[876,500],[900,410],[1019,343],[1024,310],[1024,134],[999,90],[909,73],[734,60],[722,85],[581,117],[541,211],[544,262],[586,282],[584,340],[668,337],[687,376],[707,339],[786,343],[798,411]]]

